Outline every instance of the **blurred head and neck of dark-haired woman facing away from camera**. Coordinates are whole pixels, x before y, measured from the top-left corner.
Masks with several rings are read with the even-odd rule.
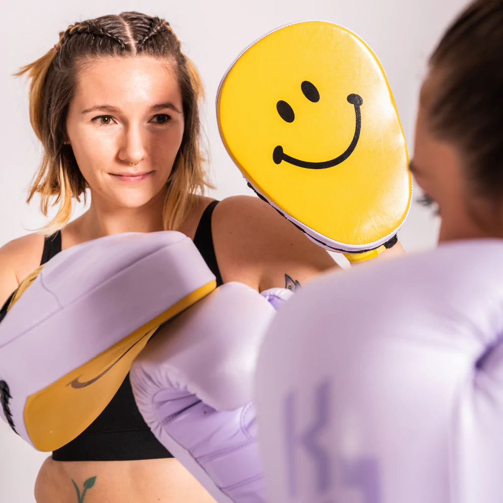
[[[478,0],[430,58],[410,171],[441,215],[440,241],[502,237],[503,3]]]

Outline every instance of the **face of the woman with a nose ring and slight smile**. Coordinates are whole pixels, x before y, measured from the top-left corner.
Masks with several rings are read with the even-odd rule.
[[[78,71],[66,131],[93,201],[143,206],[163,194],[182,142],[175,67],[152,57],[88,62]]]

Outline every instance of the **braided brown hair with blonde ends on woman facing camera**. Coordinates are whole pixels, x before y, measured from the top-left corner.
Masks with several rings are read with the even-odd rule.
[[[44,56],[21,68],[30,83],[30,120],[44,154],[28,202],[40,193],[44,215],[50,200],[59,203],[56,217],[46,226],[52,232],[70,218],[71,199],[85,196],[87,183],[82,177],[71,146],[65,143],[66,115],[73,98],[77,70],[92,58],[148,55],[174,64],[183,102],[185,129],[168,181],[164,204],[164,228],[176,229],[192,201],[192,194],[209,186],[200,148],[198,101],[201,79],[193,63],[182,53],[180,41],[169,23],[138,12],[102,16],[81,21],[60,32],[59,41]]]

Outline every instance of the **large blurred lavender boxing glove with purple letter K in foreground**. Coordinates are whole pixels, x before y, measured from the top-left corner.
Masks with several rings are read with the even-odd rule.
[[[278,312],[256,380],[272,503],[501,501],[502,255],[330,273]]]

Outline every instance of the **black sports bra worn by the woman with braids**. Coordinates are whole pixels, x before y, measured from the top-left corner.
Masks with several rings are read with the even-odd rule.
[[[199,221],[194,244],[217,279],[222,278],[215,257],[211,234],[211,214],[218,201],[211,202]],[[61,233],[45,239],[44,264],[61,251]],[[55,461],[126,461],[172,458],[173,455],[151,433],[134,401],[129,374],[96,420],[77,438],[52,453]]]

